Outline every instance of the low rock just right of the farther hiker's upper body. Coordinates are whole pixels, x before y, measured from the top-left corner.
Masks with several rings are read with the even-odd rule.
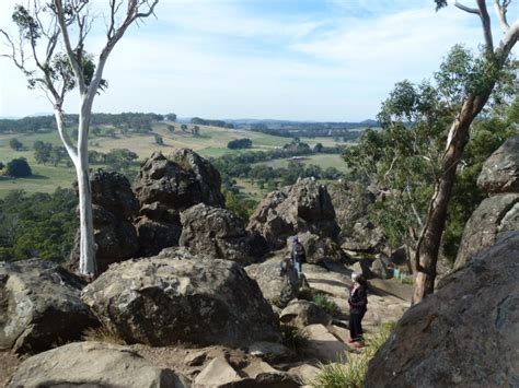
[[[330,237],[321,237],[316,234],[300,233],[297,235],[299,242],[304,247],[307,262],[322,264],[325,261],[346,261],[347,257],[339,245]],[[287,244],[291,251],[291,244]]]

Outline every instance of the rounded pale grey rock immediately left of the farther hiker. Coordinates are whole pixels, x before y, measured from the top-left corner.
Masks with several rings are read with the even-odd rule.
[[[263,296],[277,307],[285,307],[298,293],[298,274],[290,260],[275,257],[258,264],[245,268],[249,277],[254,279]]]

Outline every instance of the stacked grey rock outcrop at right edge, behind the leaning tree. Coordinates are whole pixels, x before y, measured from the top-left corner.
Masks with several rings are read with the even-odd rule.
[[[454,269],[464,266],[507,232],[519,231],[519,137],[508,139],[483,165],[477,185],[491,197],[463,231]]]

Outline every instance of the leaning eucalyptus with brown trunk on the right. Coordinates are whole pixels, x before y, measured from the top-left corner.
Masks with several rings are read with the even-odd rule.
[[[437,10],[447,7],[447,0],[435,0],[435,2]],[[475,0],[473,8],[458,1],[454,2],[458,9],[480,19],[484,39],[483,50],[477,66],[468,73],[464,86],[454,90],[454,92],[459,92],[461,103],[450,125],[440,158],[439,178],[435,183],[425,225],[416,247],[415,264],[418,272],[415,279],[413,303],[420,302],[427,294],[434,292],[436,266],[446,225],[447,209],[455,180],[457,167],[470,139],[471,125],[488,102],[498,74],[519,39],[519,19],[512,24],[507,20],[507,11],[511,2],[512,0],[493,1],[503,30],[501,38],[496,47],[494,46],[492,20],[486,1]],[[449,80],[445,81],[445,84],[449,85]]]

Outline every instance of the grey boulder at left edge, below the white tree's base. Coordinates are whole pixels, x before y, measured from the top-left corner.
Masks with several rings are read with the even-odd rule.
[[[42,352],[99,326],[81,302],[83,285],[50,261],[0,262],[0,350]]]

